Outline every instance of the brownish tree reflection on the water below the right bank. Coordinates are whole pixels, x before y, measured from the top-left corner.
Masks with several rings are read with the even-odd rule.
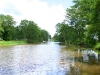
[[[100,75],[100,55],[93,50],[61,50],[61,64],[70,67],[66,75]],[[65,66],[67,64],[67,66]]]

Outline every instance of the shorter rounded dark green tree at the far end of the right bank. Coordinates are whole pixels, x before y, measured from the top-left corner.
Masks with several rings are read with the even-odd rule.
[[[76,32],[73,26],[69,26],[64,22],[56,25],[56,34],[53,37],[54,40],[65,42],[66,44],[75,44]]]

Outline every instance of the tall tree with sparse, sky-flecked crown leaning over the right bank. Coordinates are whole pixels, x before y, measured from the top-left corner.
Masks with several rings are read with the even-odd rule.
[[[75,32],[77,33],[77,44],[81,45],[84,42],[84,32],[87,21],[85,19],[85,13],[80,9],[79,3],[79,1],[76,1],[75,5],[66,10],[66,20],[71,26],[73,26]]]

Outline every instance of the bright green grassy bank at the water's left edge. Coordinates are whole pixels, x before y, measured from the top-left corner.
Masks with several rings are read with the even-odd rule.
[[[26,41],[0,41],[0,46],[22,45],[27,44]]]

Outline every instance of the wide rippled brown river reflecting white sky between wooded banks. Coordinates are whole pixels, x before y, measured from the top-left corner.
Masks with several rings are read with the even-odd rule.
[[[100,55],[57,42],[0,47],[0,75],[100,75]]]

